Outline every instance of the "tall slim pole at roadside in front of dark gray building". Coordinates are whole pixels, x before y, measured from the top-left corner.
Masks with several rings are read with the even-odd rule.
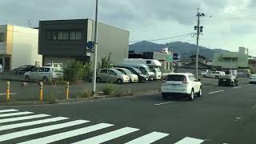
[[[96,71],[97,71],[97,46],[98,46],[98,0],[96,0],[95,28],[94,28],[94,72],[92,81],[92,95],[96,94]]]

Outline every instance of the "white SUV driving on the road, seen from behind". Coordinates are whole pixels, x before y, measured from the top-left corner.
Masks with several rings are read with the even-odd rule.
[[[202,96],[202,83],[197,81],[194,74],[177,73],[169,74],[162,82],[162,98],[177,94],[185,95],[190,101],[193,101],[194,94]]]

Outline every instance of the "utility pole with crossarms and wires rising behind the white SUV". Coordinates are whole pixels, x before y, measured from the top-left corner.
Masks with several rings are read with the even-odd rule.
[[[203,29],[203,26],[200,26],[200,17],[203,17],[203,16],[205,16],[205,14],[199,13],[199,8],[198,8],[198,13],[197,13],[198,25],[194,26],[194,30],[197,30],[197,54],[196,54],[197,56],[196,56],[196,66],[195,66],[197,79],[198,79],[199,35],[200,33],[202,33],[202,29]]]

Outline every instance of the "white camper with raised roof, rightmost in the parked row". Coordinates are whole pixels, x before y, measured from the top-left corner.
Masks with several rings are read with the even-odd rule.
[[[123,63],[142,64],[150,67],[150,70],[154,72],[155,79],[160,80],[162,78],[162,63],[154,59],[142,59],[142,58],[126,58]]]

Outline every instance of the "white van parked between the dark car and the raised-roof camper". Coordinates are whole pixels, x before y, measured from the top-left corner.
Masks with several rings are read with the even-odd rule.
[[[149,79],[150,80],[154,80],[156,79],[155,78],[155,75],[154,75],[154,72],[152,70],[150,70],[150,67],[149,66],[146,66],[146,65],[143,65],[143,64],[134,64],[134,63],[120,63],[116,66],[130,66],[130,67],[135,67],[137,68],[138,70],[140,70],[142,72],[142,74],[147,74],[149,75]]]

